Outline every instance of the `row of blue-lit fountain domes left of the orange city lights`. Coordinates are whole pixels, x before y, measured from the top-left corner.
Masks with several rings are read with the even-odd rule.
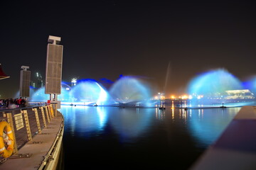
[[[30,101],[48,101],[45,87],[36,90]],[[121,77],[111,87],[110,94],[97,81],[83,79],[73,86],[62,83],[58,101],[64,105],[84,106],[142,106],[151,107],[151,91],[146,83],[135,77]]]

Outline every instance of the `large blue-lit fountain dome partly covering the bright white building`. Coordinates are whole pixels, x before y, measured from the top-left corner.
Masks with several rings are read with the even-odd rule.
[[[239,105],[239,93],[243,91],[245,89],[240,80],[225,69],[200,74],[188,84],[191,106]]]

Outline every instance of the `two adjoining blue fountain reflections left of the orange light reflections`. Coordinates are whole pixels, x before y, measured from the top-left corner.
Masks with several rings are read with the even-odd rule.
[[[61,106],[60,112],[67,124],[65,128],[72,135],[89,137],[92,133],[105,130],[108,122],[123,140],[127,140],[142,135],[144,128],[150,125],[154,111],[151,108]]]

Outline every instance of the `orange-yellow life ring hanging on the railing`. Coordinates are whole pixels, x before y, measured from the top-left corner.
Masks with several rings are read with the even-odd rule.
[[[5,134],[5,135],[4,135]],[[0,122],[0,156],[11,157],[14,152],[14,133],[6,121]]]

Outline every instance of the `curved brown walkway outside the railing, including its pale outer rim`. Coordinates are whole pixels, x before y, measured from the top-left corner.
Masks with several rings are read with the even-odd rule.
[[[56,169],[63,131],[63,115],[57,111],[46,127],[33,135],[32,140],[23,146],[16,144],[18,152],[0,164],[0,169]]]

